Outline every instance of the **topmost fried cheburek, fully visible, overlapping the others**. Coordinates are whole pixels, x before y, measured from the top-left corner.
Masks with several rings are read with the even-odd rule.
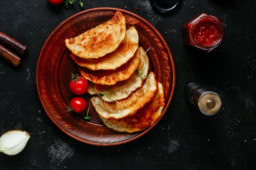
[[[117,11],[111,20],[100,24],[77,37],[66,39],[67,48],[82,58],[99,58],[115,51],[124,40],[126,19]]]

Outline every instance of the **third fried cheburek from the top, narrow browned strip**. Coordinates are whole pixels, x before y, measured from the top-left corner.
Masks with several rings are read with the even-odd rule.
[[[140,52],[139,48],[137,48],[134,56],[115,70],[91,71],[90,69],[81,66],[78,69],[85,79],[88,79],[95,84],[113,85],[131,77],[132,73],[134,73],[139,66],[139,58]]]

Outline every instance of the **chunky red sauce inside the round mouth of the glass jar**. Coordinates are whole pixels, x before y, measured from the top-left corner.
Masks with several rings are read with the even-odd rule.
[[[220,28],[215,22],[205,18],[195,26],[194,36],[200,45],[210,46],[219,40]]]

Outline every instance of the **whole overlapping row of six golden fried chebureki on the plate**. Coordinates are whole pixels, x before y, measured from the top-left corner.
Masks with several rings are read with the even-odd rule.
[[[163,86],[149,69],[150,60],[139,46],[136,28],[126,28],[121,12],[66,39],[65,44],[79,72],[89,81],[90,100],[107,127],[132,133],[148,128],[161,117]]]

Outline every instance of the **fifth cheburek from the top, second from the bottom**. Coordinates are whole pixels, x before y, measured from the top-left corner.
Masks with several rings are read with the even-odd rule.
[[[157,79],[155,73],[150,72],[144,85],[124,100],[116,102],[105,102],[101,97],[95,95],[91,98],[92,105],[100,117],[105,119],[121,119],[134,115],[138,110],[150,102],[157,91]]]

